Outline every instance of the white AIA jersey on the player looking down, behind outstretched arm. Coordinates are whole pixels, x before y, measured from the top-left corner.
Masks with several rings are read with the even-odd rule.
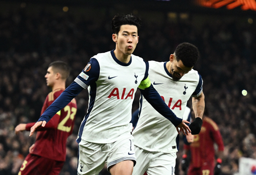
[[[166,62],[148,61],[148,77],[154,88],[178,118],[182,118],[187,101],[202,92],[202,77],[195,70],[174,81]],[[159,114],[141,95],[139,120],[133,131],[134,145],[147,151],[177,152],[177,131],[170,121]]]

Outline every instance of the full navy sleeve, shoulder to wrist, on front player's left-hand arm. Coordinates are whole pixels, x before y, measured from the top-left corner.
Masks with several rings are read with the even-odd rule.
[[[44,111],[39,121],[48,122],[57,112],[67,106],[83,89],[99,79],[99,63],[91,58],[74,82]]]

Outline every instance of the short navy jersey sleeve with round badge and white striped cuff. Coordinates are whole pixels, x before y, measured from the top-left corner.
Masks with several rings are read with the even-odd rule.
[[[95,58],[91,58],[90,62],[86,65],[83,71],[74,80],[84,89],[86,89],[91,83],[94,83],[99,79],[99,62]]]

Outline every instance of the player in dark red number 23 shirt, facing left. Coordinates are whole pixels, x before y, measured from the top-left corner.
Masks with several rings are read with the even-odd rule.
[[[44,102],[41,114],[65,90],[70,69],[63,61],[50,63],[45,75],[47,86],[52,88]],[[72,134],[76,114],[76,100],[72,99],[56,112],[45,127],[37,128],[35,143],[29,148],[18,175],[58,175],[66,159],[66,142]],[[19,124],[15,133],[30,131],[35,123]]]

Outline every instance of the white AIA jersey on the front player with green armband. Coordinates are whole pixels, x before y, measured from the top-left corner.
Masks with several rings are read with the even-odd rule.
[[[129,63],[119,61],[113,51],[91,58],[75,79],[89,91],[89,108],[79,129],[78,143],[79,139],[112,143],[118,137],[131,136],[132,102],[145,72],[144,60],[135,55]]]

